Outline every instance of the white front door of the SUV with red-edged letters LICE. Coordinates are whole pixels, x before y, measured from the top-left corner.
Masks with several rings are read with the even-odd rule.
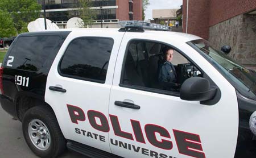
[[[123,157],[233,157],[238,131],[233,86],[184,41],[145,34],[144,41],[162,41],[186,53],[188,60],[203,68],[220,88],[221,98],[207,106],[181,100],[178,92],[146,86],[143,73],[139,72],[139,66],[143,67],[139,63],[143,62],[137,58],[141,48],[130,48],[133,40],[138,40],[133,39],[135,34],[125,34],[114,73],[109,109],[112,152]]]

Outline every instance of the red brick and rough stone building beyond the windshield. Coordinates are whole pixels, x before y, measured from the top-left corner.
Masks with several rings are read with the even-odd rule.
[[[183,0],[183,32],[208,39],[216,48],[229,44],[230,56],[256,66],[255,0]]]

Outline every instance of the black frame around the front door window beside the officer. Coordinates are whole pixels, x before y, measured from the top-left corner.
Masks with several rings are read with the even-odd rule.
[[[175,47],[174,45],[165,43],[163,41],[158,41],[158,40],[148,40],[148,39],[137,39],[137,38],[134,38],[134,39],[130,39],[127,42],[126,49],[125,49],[125,55],[123,57],[121,77],[120,77],[120,81],[119,81],[119,86],[122,87],[122,88],[130,88],[130,89],[135,89],[135,90],[142,90],[142,91],[145,91],[145,92],[152,92],[152,93],[158,93],[158,94],[164,94],[164,95],[171,95],[171,96],[174,96],[174,97],[180,97],[180,92],[172,92],[172,91],[162,90],[162,89],[147,88],[147,87],[144,87],[144,86],[137,86],[137,85],[121,84],[122,80],[123,80],[123,75],[124,75],[124,69],[125,69],[125,62],[126,62],[127,52],[129,51],[130,44],[133,41],[144,41],[144,42],[148,41],[148,42],[154,42],[154,43],[166,45],[167,47],[171,47],[171,48],[175,49],[175,51],[177,53],[180,53],[180,55],[185,57],[185,59],[187,59],[191,64],[195,65],[196,68],[203,74],[203,76],[205,74],[205,72],[203,71],[203,69],[200,68],[199,65],[197,65],[188,55],[186,55],[183,51],[181,51],[179,48]]]

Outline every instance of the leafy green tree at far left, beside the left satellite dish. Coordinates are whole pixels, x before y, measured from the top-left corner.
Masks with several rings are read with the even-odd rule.
[[[0,9],[7,10],[19,33],[27,32],[27,24],[39,18],[42,6],[36,0],[1,0]]]

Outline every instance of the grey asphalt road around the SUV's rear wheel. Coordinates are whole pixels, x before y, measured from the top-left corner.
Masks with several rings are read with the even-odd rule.
[[[22,123],[14,120],[0,106],[0,157],[35,158],[22,134]],[[85,157],[76,152],[66,151],[61,158]],[[86,157],[85,157],[86,158]]]

